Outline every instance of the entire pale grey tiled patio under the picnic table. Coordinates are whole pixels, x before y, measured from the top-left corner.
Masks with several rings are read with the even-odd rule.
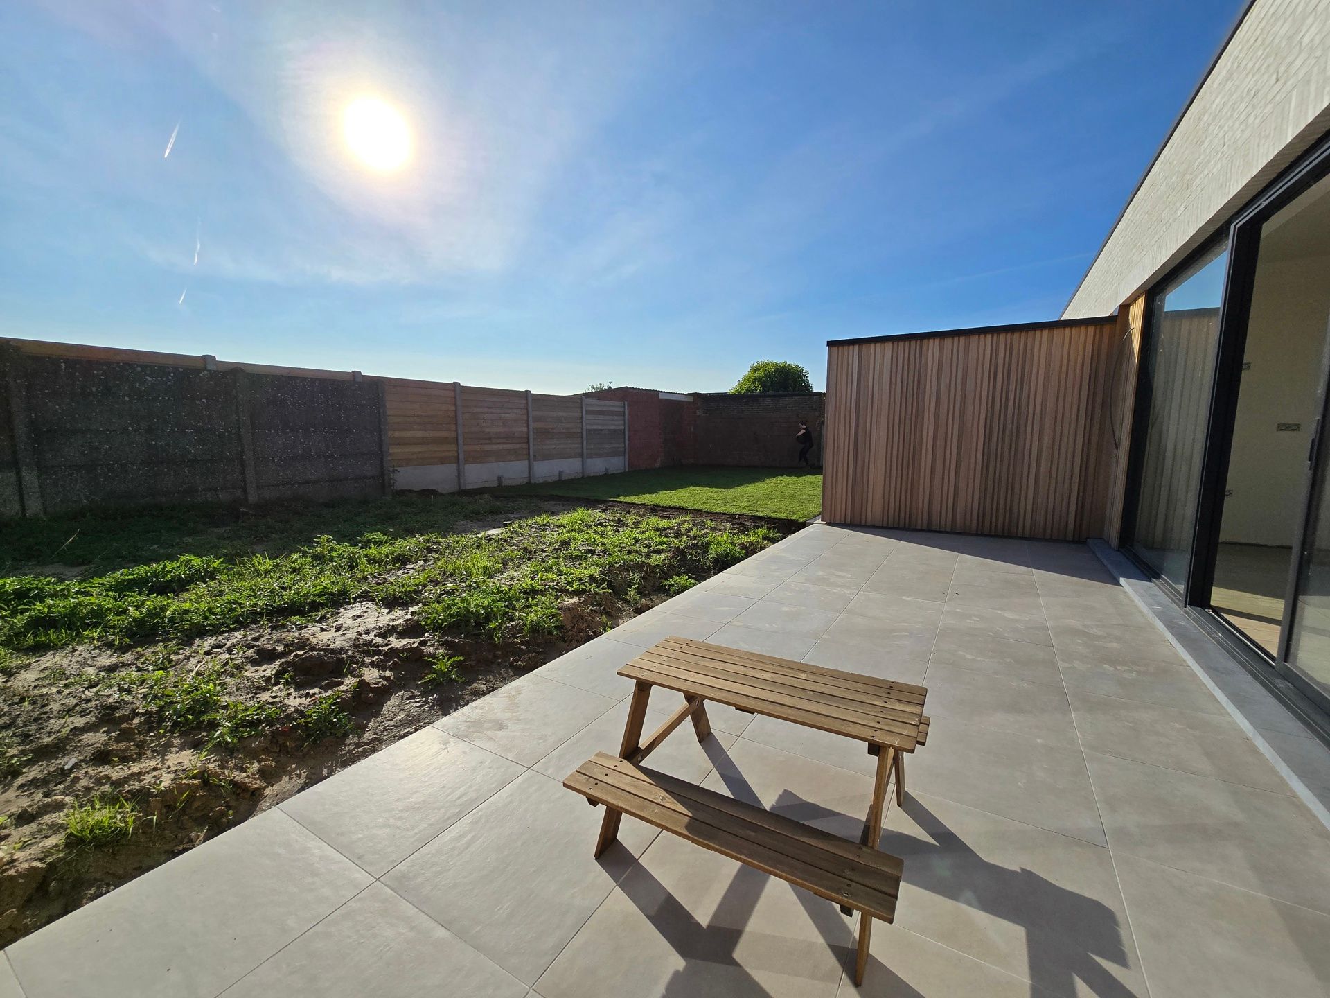
[[[830,902],[632,820],[592,858],[560,781],[668,635],[928,687],[862,989]],[[1330,833],[1267,749],[1330,757],[1230,692],[1258,723],[1085,546],[814,524],[11,946],[0,998],[1325,994]],[[863,745],[708,712],[650,765],[858,837]]]

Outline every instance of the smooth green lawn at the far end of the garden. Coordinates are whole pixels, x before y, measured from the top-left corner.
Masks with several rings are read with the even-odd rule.
[[[537,482],[499,491],[507,495],[610,499],[787,520],[807,520],[822,511],[822,474],[791,468],[654,468],[567,482]]]

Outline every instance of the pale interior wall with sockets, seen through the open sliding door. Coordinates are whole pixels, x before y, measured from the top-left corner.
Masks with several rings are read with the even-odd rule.
[[[1330,242],[1330,233],[1327,233]],[[1330,246],[1327,246],[1330,249]],[[1301,504],[1330,318],[1330,254],[1257,266],[1220,540],[1287,546]],[[1278,423],[1301,423],[1297,432]]]

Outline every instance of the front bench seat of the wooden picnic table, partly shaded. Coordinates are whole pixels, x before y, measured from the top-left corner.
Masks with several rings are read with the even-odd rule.
[[[564,786],[829,901],[895,917],[903,869],[895,856],[602,752]]]

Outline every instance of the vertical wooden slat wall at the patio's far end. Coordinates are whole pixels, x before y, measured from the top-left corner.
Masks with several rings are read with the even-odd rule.
[[[1101,535],[1117,339],[1100,321],[830,347],[823,518]]]

